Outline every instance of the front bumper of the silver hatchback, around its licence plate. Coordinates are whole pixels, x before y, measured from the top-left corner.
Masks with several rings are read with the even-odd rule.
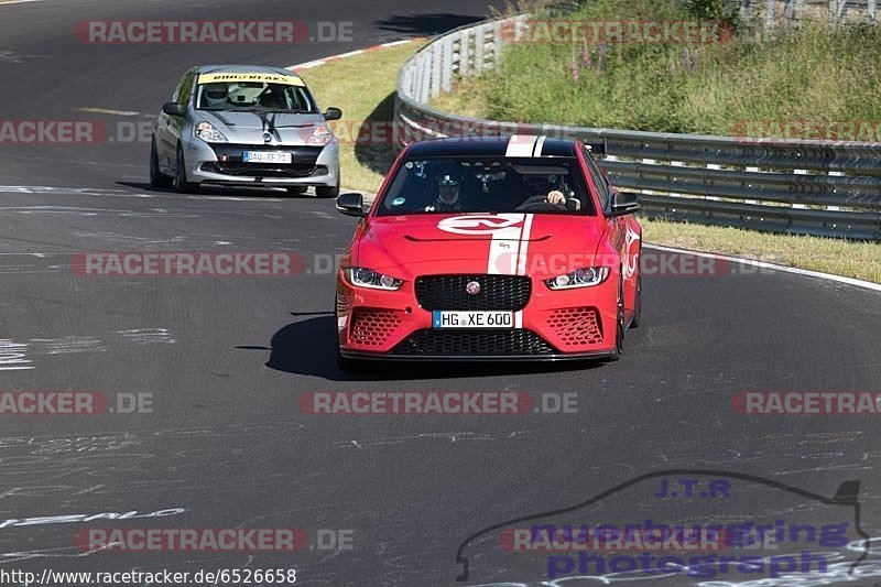
[[[244,163],[244,151],[285,151],[291,164]],[[283,144],[206,143],[193,139],[185,144],[187,180],[214,185],[337,186],[339,144],[324,146]]]

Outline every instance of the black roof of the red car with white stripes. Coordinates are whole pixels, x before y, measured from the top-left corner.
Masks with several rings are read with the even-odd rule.
[[[413,143],[407,157],[423,156],[575,156],[577,142],[533,134],[510,137],[457,137]]]

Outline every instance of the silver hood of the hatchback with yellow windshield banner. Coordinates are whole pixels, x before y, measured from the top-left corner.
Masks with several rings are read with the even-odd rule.
[[[269,144],[306,144],[315,127],[325,123],[318,113],[196,110],[196,123],[203,120],[222,132],[229,142],[246,144],[267,144],[264,131],[272,135]]]

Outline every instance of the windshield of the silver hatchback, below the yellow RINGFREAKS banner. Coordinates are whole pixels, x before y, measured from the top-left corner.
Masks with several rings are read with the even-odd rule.
[[[199,110],[252,110],[316,113],[315,102],[303,86],[265,81],[213,81],[196,88]]]

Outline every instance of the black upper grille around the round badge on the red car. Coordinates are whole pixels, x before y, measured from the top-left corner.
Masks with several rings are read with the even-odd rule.
[[[466,291],[469,282],[480,293]],[[532,280],[520,275],[429,275],[416,279],[416,300],[425,309],[510,309],[526,307]]]

